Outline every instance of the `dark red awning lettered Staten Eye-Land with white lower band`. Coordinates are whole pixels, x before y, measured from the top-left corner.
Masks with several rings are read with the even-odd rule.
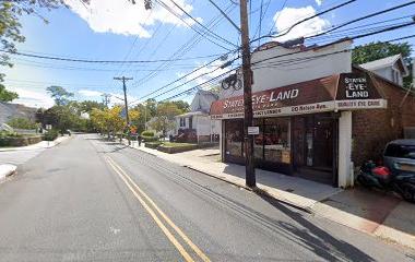
[[[367,73],[342,73],[252,94],[254,117],[386,108]],[[212,103],[213,119],[244,118],[244,96]]]

